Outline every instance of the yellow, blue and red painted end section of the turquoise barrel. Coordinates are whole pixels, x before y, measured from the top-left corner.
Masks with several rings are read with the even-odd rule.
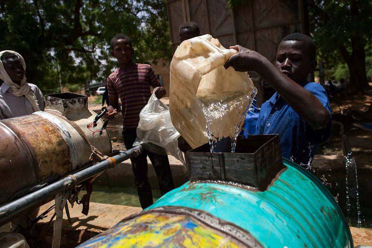
[[[188,215],[146,213],[121,222],[80,248],[246,247],[230,235]]]

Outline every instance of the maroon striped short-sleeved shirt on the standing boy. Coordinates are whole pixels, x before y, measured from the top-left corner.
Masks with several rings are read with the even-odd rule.
[[[107,78],[109,96],[119,96],[122,105],[124,128],[137,128],[140,112],[151,96],[151,89],[160,86],[153,68],[134,64],[127,69],[117,69]]]

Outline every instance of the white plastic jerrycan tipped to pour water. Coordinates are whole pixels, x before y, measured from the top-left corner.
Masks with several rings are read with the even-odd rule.
[[[234,137],[241,130],[237,124],[251,104],[255,88],[247,73],[224,68],[235,53],[211,35],[185,40],[174,52],[170,115],[174,127],[193,148],[208,143],[211,137],[206,132],[202,108],[210,110],[208,128],[214,138]]]

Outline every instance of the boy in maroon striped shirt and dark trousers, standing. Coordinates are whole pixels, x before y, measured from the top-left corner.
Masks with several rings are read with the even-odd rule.
[[[159,99],[165,95],[165,89],[161,87],[150,65],[132,62],[134,49],[128,36],[115,35],[110,42],[110,53],[118,60],[119,68],[107,78],[110,102],[108,117],[116,114],[120,97],[124,144],[126,149],[131,149],[137,137],[136,129],[140,121],[140,111],[151,96],[150,86],[154,88],[155,95]],[[161,194],[174,189],[168,156],[144,150],[140,156],[131,159],[134,182],[143,209],[153,204],[153,196],[147,177],[147,156],[154,166]]]

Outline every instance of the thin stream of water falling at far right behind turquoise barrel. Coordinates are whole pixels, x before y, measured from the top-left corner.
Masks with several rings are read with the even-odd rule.
[[[356,163],[354,156],[351,151],[346,154],[346,209],[347,219],[350,223],[350,212],[351,206],[356,205],[358,222],[357,227],[362,226],[362,220],[360,218],[360,203],[359,203],[359,185],[358,175],[356,170]]]

